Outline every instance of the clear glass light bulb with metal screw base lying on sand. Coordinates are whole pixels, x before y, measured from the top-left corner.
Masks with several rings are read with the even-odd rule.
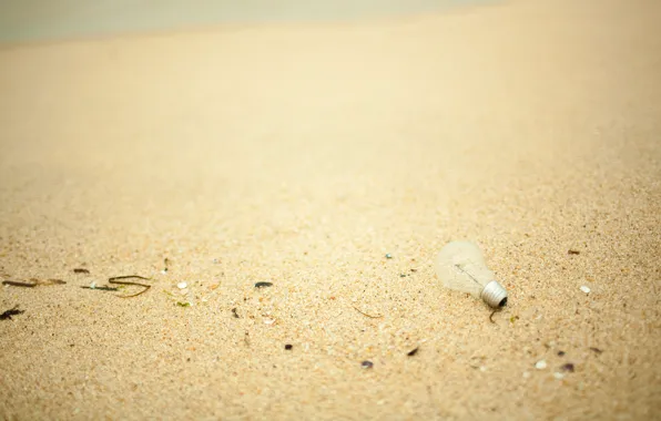
[[[468,292],[497,308],[507,304],[507,290],[489,270],[482,253],[470,242],[452,242],[438,254],[436,276],[446,288]]]

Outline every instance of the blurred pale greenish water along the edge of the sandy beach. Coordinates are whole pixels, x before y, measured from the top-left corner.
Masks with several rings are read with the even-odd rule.
[[[150,32],[217,23],[352,20],[480,0],[0,0],[0,41]]]

